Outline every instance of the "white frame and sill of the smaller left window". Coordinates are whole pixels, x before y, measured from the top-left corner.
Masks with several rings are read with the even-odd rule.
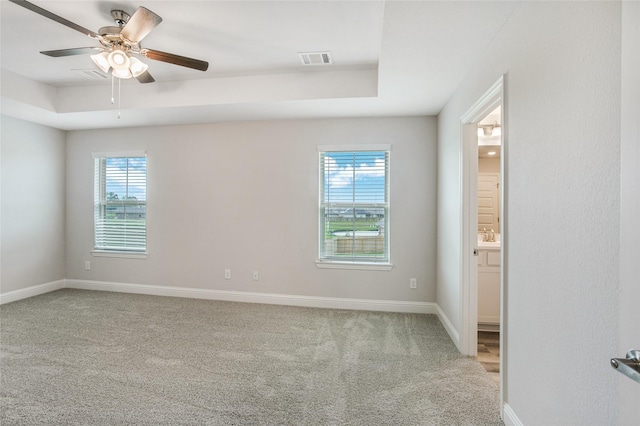
[[[146,259],[148,257],[148,202],[147,202],[147,189],[148,189],[148,159],[145,151],[126,151],[126,152],[97,152],[92,153],[94,159],[94,214],[93,214],[93,250],[91,254],[97,257],[120,257],[120,258],[134,258],[134,259]],[[144,218],[144,247],[126,247],[126,246],[105,246],[98,245],[98,223],[99,218],[104,218],[105,210],[108,205],[113,205],[113,202],[109,202],[107,199],[107,187],[106,187],[106,160],[109,158],[119,159],[132,159],[132,158],[144,158],[145,159],[145,175],[144,175],[144,187],[145,187],[145,199],[144,201],[128,201],[119,200],[118,205],[123,202],[128,206],[145,206],[145,218]],[[127,187],[131,185],[127,177]],[[126,214],[126,213],[125,213]]]

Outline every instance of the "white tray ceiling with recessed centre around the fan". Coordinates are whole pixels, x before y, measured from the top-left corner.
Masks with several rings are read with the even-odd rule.
[[[93,39],[3,0],[2,113],[73,130],[288,118],[435,115],[517,4],[458,1],[33,1],[97,31],[112,9],[163,18],[143,47],[209,62],[209,70],[143,59],[155,83],[87,79],[88,56],[42,50]],[[333,64],[303,66],[299,52]],[[497,76],[496,76],[497,78]]]

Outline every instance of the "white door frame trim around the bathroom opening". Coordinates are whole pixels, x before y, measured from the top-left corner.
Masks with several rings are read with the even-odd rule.
[[[500,412],[503,410],[506,384],[507,348],[506,316],[506,247],[508,221],[506,215],[507,172],[507,111],[505,108],[506,75],[496,81],[460,118],[461,126],[461,184],[462,184],[462,283],[460,292],[460,351],[464,355],[478,353],[478,262],[474,250],[478,248],[478,122],[498,106],[501,107],[500,155]]]

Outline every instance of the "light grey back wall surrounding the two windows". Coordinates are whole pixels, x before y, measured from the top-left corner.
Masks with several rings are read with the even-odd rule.
[[[318,269],[317,145],[390,143],[392,271]],[[70,132],[67,278],[435,301],[436,120],[227,123]],[[92,257],[95,151],[146,150],[146,260]],[[90,271],[84,262],[91,261]],[[224,269],[232,279],[224,280]],[[253,270],[260,280],[252,281]],[[418,289],[409,289],[409,278]]]

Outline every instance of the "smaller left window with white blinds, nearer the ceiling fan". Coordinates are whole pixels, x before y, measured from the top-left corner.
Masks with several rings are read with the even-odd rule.
[[[94,249],[145,253],[147,158],[144,153],[94,154]]]

